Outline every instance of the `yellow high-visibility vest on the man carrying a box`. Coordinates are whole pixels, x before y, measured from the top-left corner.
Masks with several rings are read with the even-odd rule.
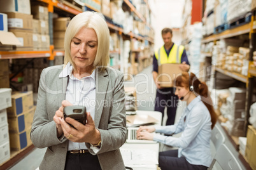
[[[166,50],[164,46],[162,46],[159,50],[155,51],[155,58],[157,58],[158,65],[164,63],[181,63],[180,60],[183,50],[184,46],[173,44],[173,48],[171,48],[169,56],[167,56]]]

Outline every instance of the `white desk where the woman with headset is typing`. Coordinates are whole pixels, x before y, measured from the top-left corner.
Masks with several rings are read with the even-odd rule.
[[[160,125],[162,122],[162,113],[161,112],[155,112],[155,111],[144,111],[144,110],[138,110],[137,114],[139,115],[150,115],[153,118],[157,119],[157,125]],[[152,155],[149,164],[125,164],[125,166],[132,167],[134,170],[156,170],[158,166],[158,156],[159,156],[159,143],[125,143],[121,148],[121,153],[125,154],[124,152],[147,152]],[[138,155],[143,156],[143,155]],[[146,155],[148,156],[148,155]],[[155,157],[155,158],[153,158]],[[129,160],[126,160],[126,157],[123,157],[124,162],[129,162]],[[136,160],[135,163],[138,163],[139,160]]]

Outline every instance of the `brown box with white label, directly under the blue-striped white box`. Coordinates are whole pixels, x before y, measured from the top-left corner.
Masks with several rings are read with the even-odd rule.
[[[33,30],[33,16],[24,13],[6,13],[9,29]]]

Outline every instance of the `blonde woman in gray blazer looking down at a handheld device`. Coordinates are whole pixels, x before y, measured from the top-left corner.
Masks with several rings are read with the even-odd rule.
[[[83,12],[68,25],[64,65],[43,70],[32,123],[35,147],[47,147],[39,169],[125,169],[123,74],[107,67],[110,34],[100,13]],[[87,123],[63,119],[63,108],[83,105]],[[70,126],[71,124],[72,126]]]

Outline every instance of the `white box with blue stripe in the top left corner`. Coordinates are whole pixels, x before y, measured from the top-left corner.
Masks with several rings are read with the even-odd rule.
[[[1,12],[19,12],[25,14],[31,14],[30,1],[29,0],[0,0]]]

